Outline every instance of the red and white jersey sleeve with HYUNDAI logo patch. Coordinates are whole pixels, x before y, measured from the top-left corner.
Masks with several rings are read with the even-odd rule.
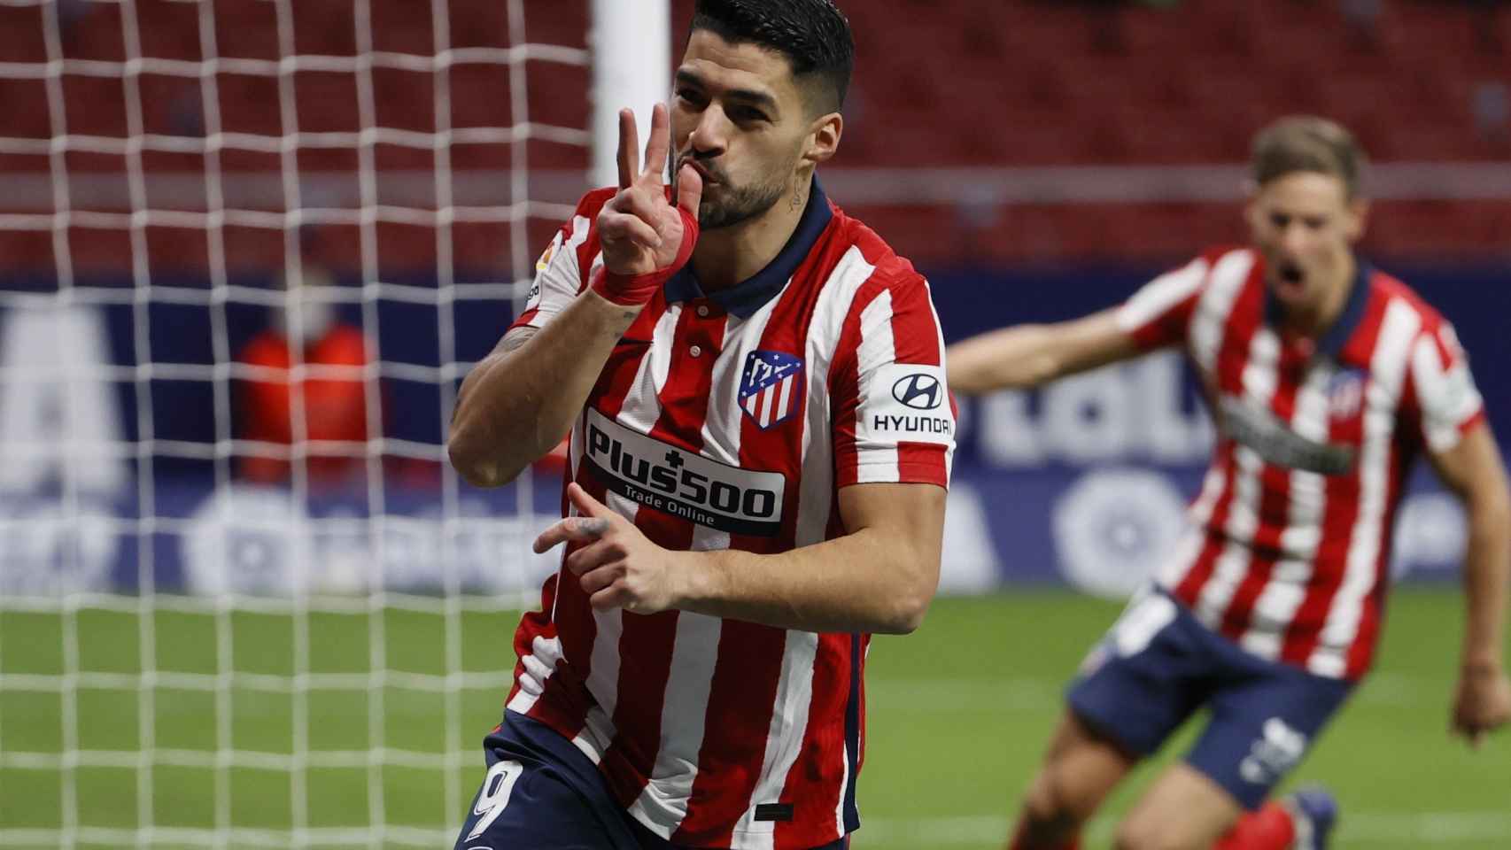
[[[840,335],[834,379],[836,485],[949,486],[955,405],[944,340],[917,273],[861,288]]]

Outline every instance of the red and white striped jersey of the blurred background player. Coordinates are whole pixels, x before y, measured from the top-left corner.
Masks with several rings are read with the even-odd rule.
[[[1321,340],[1280,319],[1251,249],[1210,251],[1118,313],[1141,347],[1185,346],[1218,423],[1192,528],[1157,581],[1262,658],[1357,679],[1411,462],[1457,445],[1484,406],[1449,323],[1363,263]]]

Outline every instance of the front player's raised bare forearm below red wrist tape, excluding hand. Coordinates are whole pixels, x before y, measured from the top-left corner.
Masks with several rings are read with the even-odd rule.
[[[561,442],[638,314],[589,290],[520,347],[479,362],[452,418],[456,471],[476,486],[506,485]]]

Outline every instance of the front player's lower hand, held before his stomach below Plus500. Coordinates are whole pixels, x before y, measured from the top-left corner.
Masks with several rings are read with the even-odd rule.
[[[535,539],[544,553],[565,540],[592,540],[567,556],[594,608],[653,614],[674,607],[672,560],[677,553],[650,542],[633,522],[588,495],[576,482],[567,498],[582,516],[568,516]]]

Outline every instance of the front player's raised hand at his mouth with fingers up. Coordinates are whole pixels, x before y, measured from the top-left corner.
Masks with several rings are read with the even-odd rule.
[[[651,137],[645,143],[645,168],[639,163],[635,113],[620,110],[620,193],[598,211],[603,264],[610,275],[669,275],[692,255],[697,240],[703,177],[692,166],[677,175],[677,205],[666,199],[662,175],[671,149],[671,119],[666,104],[651,112]],[[678,211],[680,210],[680,211]],[[691,222],[691,229],[688,233]],[[684,245],[686,243],[686,245]]]

